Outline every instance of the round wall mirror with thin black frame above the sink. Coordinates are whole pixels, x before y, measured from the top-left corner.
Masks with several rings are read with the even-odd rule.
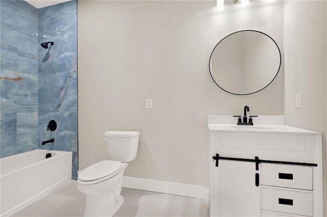
[[[282,56],[267,34],[244,30],[223,38],[210,56],[209,71],[224,91],[248,95],[266,88],[281,68]]]

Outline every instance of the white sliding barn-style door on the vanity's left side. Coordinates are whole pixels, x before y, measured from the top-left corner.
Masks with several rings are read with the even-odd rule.
[[[252,162],[219,161],[215,178],[219,197],[219,213],[214,216],[260,216],[260,187],[255,186]]]

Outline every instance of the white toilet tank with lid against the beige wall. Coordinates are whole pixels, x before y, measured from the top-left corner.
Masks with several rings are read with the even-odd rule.
[[[138,131],[107,131],[104,140],[107,142],[109,160],[129,162],[135,159],[138,148]]]

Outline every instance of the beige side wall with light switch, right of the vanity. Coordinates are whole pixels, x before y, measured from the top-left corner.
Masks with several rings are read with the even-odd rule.
[[[286,124],[323,132],[326,147],[326,2],[284,2]],[[302,93],[302,108],[295,94]],[[324,216],[327,215],[327,168],[323,167]]]

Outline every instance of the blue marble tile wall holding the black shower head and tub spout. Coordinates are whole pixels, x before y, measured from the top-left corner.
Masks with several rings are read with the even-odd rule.
[[[77,2],[38,11],[38,148],[73,152],[73,179],[77,179]],[[57,122],[48,131],[50,120]],[[42,140],[54,143],[41,145]]]

